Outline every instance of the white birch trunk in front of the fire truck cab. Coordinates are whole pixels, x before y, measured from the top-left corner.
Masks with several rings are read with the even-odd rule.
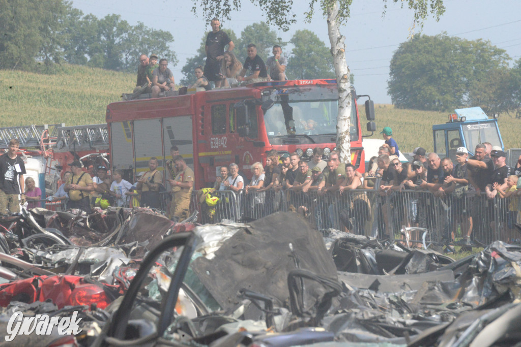
[[[343,163],[350,163],[351,83],[349,82],[349,68],[345,61],[345,36],[340,33],[337,17],[338,2],[335,1],[334,5],[327,10],[327,26],[338,84],[337,150],[340,152],[340,160]]]

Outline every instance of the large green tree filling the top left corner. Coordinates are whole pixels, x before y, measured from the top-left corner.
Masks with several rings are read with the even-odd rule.
[[[35,59],[59,60],[68,8],[62,0],[0,0],[0,66],[31,70]]]

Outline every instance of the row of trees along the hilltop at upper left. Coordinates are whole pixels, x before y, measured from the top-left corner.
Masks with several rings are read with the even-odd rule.
[[[66,61],[110,70],[135,71],[141,53],[155,53],[172,64],[173,36],[143,23],[130,25],[118,15],[98,19],[64,0],[0,0],[0,66],[33,70]]]

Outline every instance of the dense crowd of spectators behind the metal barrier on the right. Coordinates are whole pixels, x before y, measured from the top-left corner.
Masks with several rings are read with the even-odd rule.
[[[303,214],[311,214],[319,229],[340,227],[377,236],[376,226],[378,235],[383,237],[402,226],[421,224],[433,228],[436,223],[433,206],[435,199],[439,199],[448,207],[448,211],[443,212],[449,221],[443,235],[447,239],[454,240],[456,230],[461,230],[461,242],[466,244],[472,242],[473,230],[480,235],[499,233],[494,235],[500,235],[504,241],[511,241],[511,236],[516,235],[514,229],[521,209],[518,203],[521,157],[516,166],[510,168],[501,148],[484,143],[476,146],[474,156],[470,156],[465,147],[458,148],[455,162],[427,153],[422,147],[414,149],[412,162],[402,162],[392,129],[384,127],[381,134],[385,142],[378,156],[369,160],[364,174],[357,172],[351,163],[342,163],[336,151],[323,160],[324,153],[317,147],[310,161],[297,153],[270,151],[264,168],[260,162],[252,165],[253,178],[249,183],[239,174],[238,165],[232,163],[228,167],[221,166],[214,188],[242,192],[245,210],[250,211],[243,212],[255,217],[277,210],[277,192],[284,190],[286,202]],[[252,192],[253,196],[248,198]],[[309,196],[318,199],[311,200]],[[341,203],[342,196],[349,198]],[[490,201],[505,198],[505,208],[498,215]],[[371,204],[377,207],[376,213],[371,212]],[[501,230],[495,230],[497,218],[503,222]],[[338,221],[342,225],[338,225]]]

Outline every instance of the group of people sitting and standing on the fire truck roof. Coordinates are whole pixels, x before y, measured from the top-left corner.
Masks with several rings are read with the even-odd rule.
[[[251,43],[247,45],[247,58],[242,64],[233,54],[235,45],[228,34],[220,30],[219,19],[210,21],[212,31],[206,37],[205,52],[206,62],[202,66],[194,67],[196,81],[187,87],[180,88],[185,93],[186,88],[205,88],[207,91],[215,88],[231,88],[239,84],[262,81],[287,80],[286,66],[288,59],[282,56],[282,48],[274,45],[273,55],[266,63],[257,55],[257,47]],[[226,46],[228,48],[225,50]],[[168,69],[168,61],[159,59],[157,55],[150,57],[142,54],[139,57],[138,80],[134,88],[132,98],[140,94],[151,94],[153,98],[160,96],[162,92],[175,91],[175,81],[172,71]]]

